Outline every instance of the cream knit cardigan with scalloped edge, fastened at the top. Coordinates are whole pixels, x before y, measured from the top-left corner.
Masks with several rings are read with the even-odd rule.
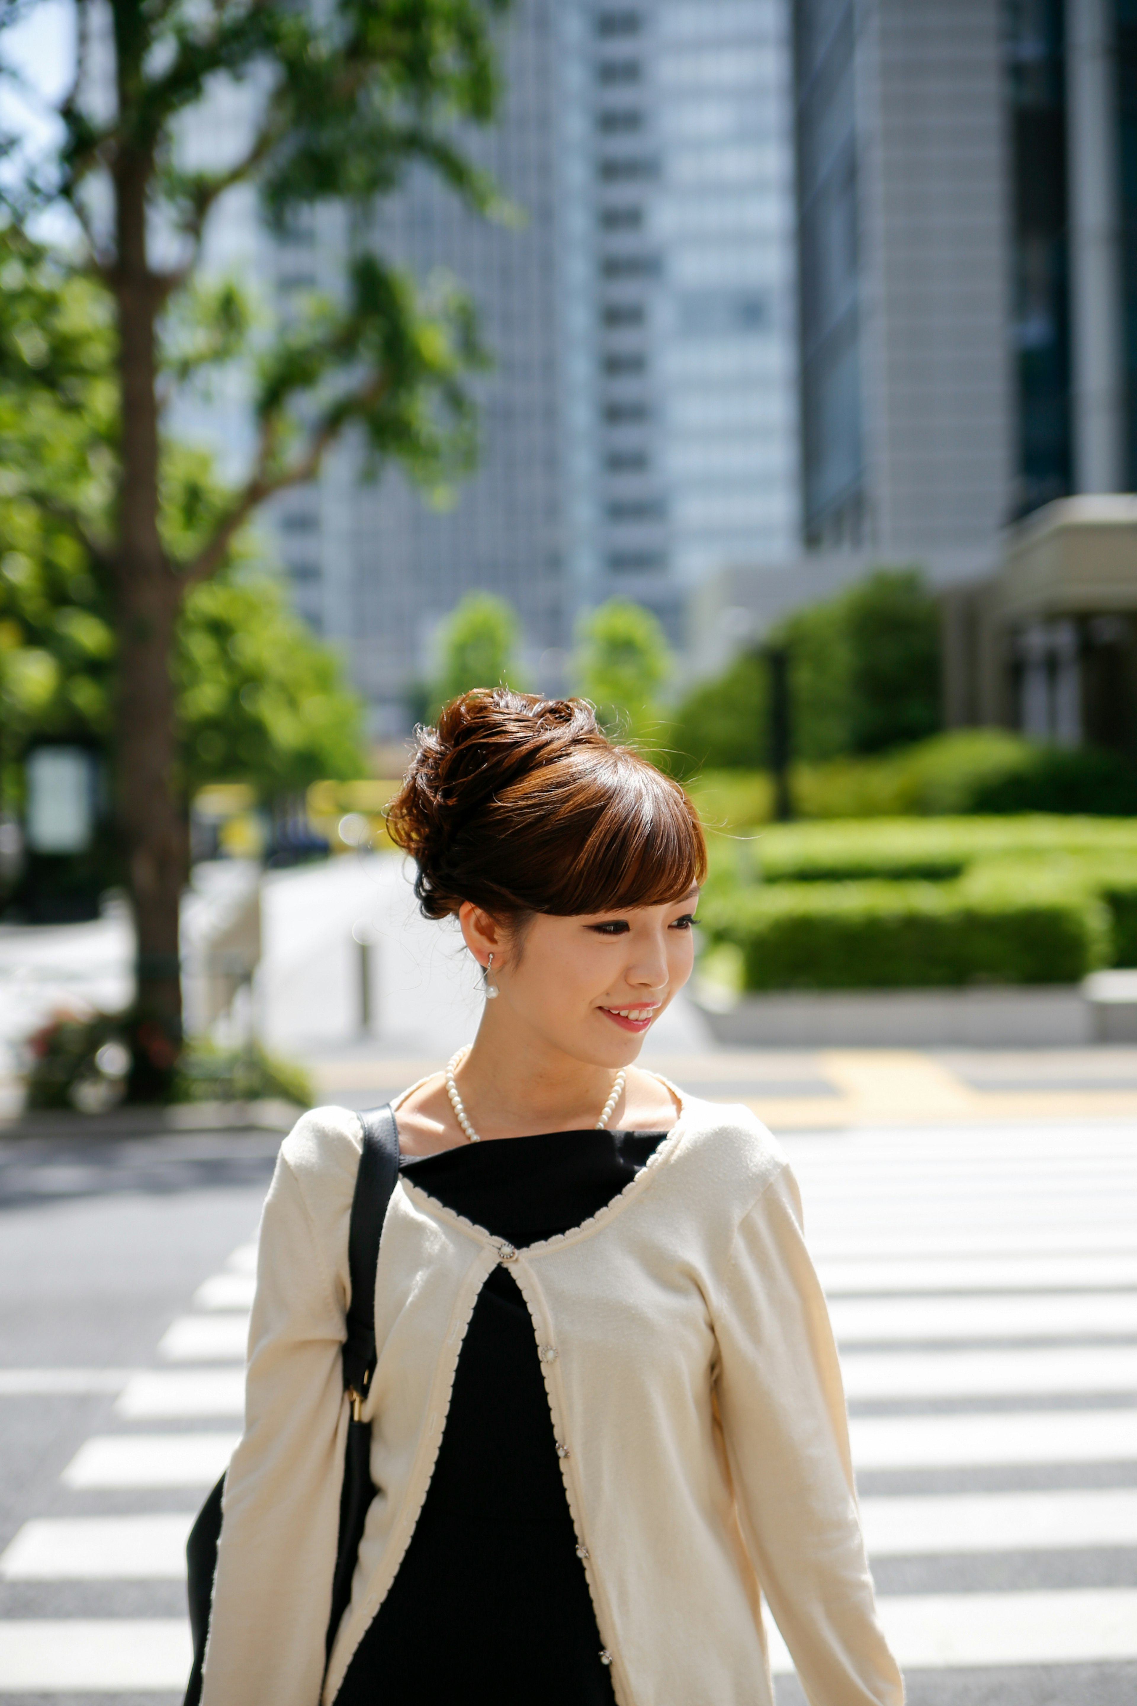
[[[324,1675],[360,1143],[346,1109],[305,1114],[264,1204],[203,1706],[331,1706],[414,1532],[462,1339],[499,1262],[532,1315],[619,1706],[772,1706],[759,1588],[811,1706],[900,1706],[796,1184],[748,1109],[695,1097],[607,1208],[523,1250],[402,1175],[365,1407],[378,1493]],[[489,1530],[488,1571],[494,1547]]]

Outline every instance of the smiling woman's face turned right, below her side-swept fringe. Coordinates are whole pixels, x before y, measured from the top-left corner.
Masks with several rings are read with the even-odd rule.
[[[484,964],[494,955],[493,981],[499,996],[484,1024],[508,1025],[592,1066],[627,1066],[643,1037],[690,978],[692,921],[699,891],[668,906],[638,906],[624,913],[585,913],[556,918],[535,913],[518,940],[499,928],[496,943],[481,937],[476,921],[493,930],[484,913],[462,908],[467,943]]]

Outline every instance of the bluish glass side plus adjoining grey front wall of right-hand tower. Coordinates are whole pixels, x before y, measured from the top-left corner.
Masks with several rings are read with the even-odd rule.
[[[805,539],[967,558],[1011,476],[999,0],[796,0]]]

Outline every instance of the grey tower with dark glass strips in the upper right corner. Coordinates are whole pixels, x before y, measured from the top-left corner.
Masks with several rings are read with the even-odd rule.
[[[992,556],[1132,485],[1132,0],[794,19],[806,541]]]

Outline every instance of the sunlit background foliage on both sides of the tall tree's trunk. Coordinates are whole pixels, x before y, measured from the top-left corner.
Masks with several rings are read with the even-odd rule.
[[[222,322],[240,319],[225,292]],[[36,333],[39,341],[29,341]],[[109,747],[118,640],[106,572],[68,512],[99,534],[111,502],[114,339],[106,299],[85,280],[0,232],[0,717],[5,798],[24,749],[46,735]],[[46,353],[44,353],[46,351]],[[29,394],[31,353],[55,389]],[[27,495],[27,481],[43,488]],[[174,560],[201,548],[225,508],[210,459],[167,445],[162,534]],[[235,546],[230,558],[249,556]],[[196,587],[182,606],[174,670],[184,788],[249,781],[257,793],[358,775],[360,703],[336,655],[283,604],[268,577],[239,568]]]

